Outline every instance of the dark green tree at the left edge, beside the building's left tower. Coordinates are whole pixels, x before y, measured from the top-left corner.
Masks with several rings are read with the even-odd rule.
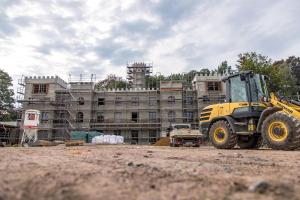
[[[16,120],[12,78],[0,69],[0,121]]]

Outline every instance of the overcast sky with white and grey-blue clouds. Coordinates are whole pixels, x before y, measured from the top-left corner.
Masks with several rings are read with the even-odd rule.
[[[300,55],[299,0],[0,0],[0,68],[19,75],[164,74]]]

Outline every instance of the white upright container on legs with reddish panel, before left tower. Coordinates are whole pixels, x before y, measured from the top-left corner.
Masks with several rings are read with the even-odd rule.
[[[26,110],[23,125],[23,136],[21,144],[33,143],[38,140],[38,127],[40,124],[40,114],[38,110]]]

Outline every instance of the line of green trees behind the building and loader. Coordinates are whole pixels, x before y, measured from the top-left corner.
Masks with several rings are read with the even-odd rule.
[[[170,75],[151,75],[146,77],[146,87],[158,88],[160,81],[181,80],[191,86],[195,74],[229,75],[238,71],[252,70],[254,73],[266,75],[270,78],[269,89],[271,92],[280,92],[283,95],[294,95],[300,92],[300,58],[290,56],[287,59],[273,61],[267,56],[256,52],[247,52],[238,55],[235,68],[223,61],[215,69],[201,68],[187,73]],[[96,84],[96,88],[128,88],[130,83],[116,75],[108,75]]]

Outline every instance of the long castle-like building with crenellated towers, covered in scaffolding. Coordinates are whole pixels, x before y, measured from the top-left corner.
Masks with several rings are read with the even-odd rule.
[[[59,77],[24,77],[20,81],[24,111],[41,111],[39,139],[67,140],[72,131],[122,135],[130,144],[151,144],[165,136],[173,123],[198,129],[198,113],[224,99],[222,76],[196,74],[192,87],[184,80],[160,81],[149,88],[152,64],[127,65],[128,86],[97,89],[89,80],[65,82]]]

